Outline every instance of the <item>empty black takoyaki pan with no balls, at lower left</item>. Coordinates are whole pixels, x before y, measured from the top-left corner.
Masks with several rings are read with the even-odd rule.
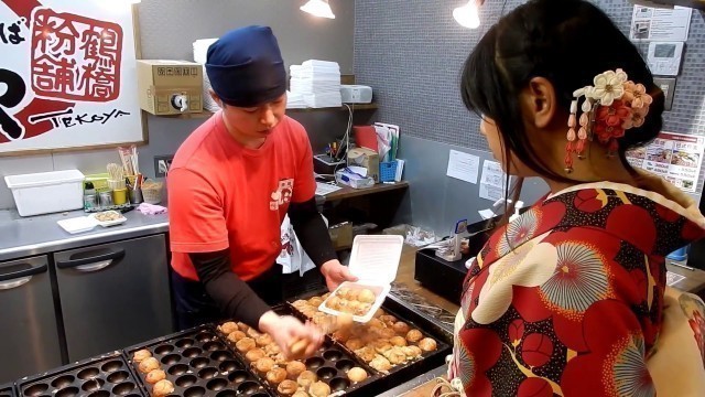
[[[144,396],[120,352],[88,358],[17,382],[20,396]]]

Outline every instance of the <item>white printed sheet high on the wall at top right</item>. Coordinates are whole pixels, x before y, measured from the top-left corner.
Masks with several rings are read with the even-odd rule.
[[[636,41],[684,42],[691,29],[693,9],[674,7],[657,9],[634,6],[629,37]]]

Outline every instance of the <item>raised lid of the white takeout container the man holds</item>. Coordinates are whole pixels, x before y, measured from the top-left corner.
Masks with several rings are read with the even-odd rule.
[[[402,236],[357,236],[352,243],[350,272],[360,281],[391,283],[397,278],[403,247]]]

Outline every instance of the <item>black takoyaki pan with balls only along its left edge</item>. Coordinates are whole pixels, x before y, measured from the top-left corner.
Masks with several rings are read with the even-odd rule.
[[[130,368],[139,378],[144,393],[150,395],[152,385],[147,383],[147,374],[142,374],[132,362],[134,352],[142,348],[149,350],[160,361],[166,379],[174,385],[174,393],[170,396],[270,395],[259,379],[235,358],[210,325],[197,326],[123,350]]]

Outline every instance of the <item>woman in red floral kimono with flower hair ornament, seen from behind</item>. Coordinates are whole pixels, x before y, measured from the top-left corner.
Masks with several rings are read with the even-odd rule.
[[[505,171],[550,194],[468,271],[456,394],[705,396],[703,303],[665,277],[665,256],[703,237],[705,218],[627,161],[663,111],[634,45],[587,1],[532,0],[474,49],[462,95]]]

